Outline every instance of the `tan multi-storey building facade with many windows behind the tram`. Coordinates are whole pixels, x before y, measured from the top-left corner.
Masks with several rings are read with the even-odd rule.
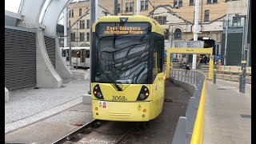
[[[221,54],[225,21],[227,17],[233,18],[232,14],[246,14],[246,3],[246,0],[199,0],[198,40],[212,40],[218,44],[218,54]],[[67,26],[69,22],[72,26],[71,45],[89,45],[90,1],[74,4],[67,6],[67,10],[72,7],[67,16]],[[195,0],[141,0],[139,4],[139,14],[154,18],[164,27],[166,42],[193,40]],[[118,15],[136,15],[137,1],[118,0],[117,7]],[[114,0],[98,0],[98,18],[104,15],[114,15]],[[233,25],[242,25],[241,22],[233,21]]]

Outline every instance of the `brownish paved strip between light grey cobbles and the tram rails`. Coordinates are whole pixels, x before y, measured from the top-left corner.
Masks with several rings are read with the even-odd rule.
[[[91,105],[79,103],[49,118],[5,134],[5,142],[53,143],[93,120]]]

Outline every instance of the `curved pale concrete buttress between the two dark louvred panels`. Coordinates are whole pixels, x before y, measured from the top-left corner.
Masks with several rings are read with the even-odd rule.
[[[54,70],[54,66],[51,64],[44,42],[43,31],[37,30],[37,87],[60,88],[62,86],[62,78],[58,75],[57,71]]]

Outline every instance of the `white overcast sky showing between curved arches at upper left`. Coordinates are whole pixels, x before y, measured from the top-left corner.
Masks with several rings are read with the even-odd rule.
[[[5,10],[9,10],[11,12],[18,13],[18,7],[19,7],[21,1],[22,0],[5,0]],[[45,11],[48,2],[50,2],[50,0],[46,0],[45,5],[42,7],[42,12]],[[63,17],[63,13],[60,15],[60,18],[62,18],[62,17]],[[40,19],[41,18],[42,18],[42,14],[40,16]],[[63,25],[63,18],[58,23]]]

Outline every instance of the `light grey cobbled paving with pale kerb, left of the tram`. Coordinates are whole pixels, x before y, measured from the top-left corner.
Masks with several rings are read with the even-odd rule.
[[[89,90],[87,77],[88,72],[82,72],[74,74],[72,79],[63,79],[60,89],[31,89],[11,94],[10,102],[5,103],[5,133],[81,103],[82,94]]]

